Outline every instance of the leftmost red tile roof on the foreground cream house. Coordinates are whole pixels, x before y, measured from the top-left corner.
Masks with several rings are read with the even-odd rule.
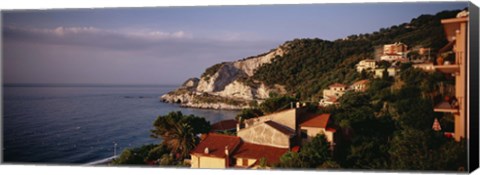
[[[241,143],[240,137],[224,134],[209,133],[190,153],[209,157],[225,157],[225,147],[228,146],[230,152],[235,151]],[[208,154],[205,154],[205,148],[208,147]]]

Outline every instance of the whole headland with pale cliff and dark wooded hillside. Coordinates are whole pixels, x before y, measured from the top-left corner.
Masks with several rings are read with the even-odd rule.
[[[249,108],[275,93],[318,102],[328,85],[368,77],[356,72],[355,64],[378,56],[384,44],[402,42],[412,52],[431,48],[430,58],[434,59],[447,43],[441,19],[455,17],[459,11],[421,15],[409,23],[335,41],[287,41],[257,56],[215,64],[200,78],[188,79],[161,99],[185,107],[214,109]]]

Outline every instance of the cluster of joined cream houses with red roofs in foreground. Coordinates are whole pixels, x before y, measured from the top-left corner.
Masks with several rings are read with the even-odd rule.
[[[325,134],[334,145],[335,129],[329,127],[330,114],[307,114],[294,108],[249,119],[237,136],[209,133],[190,152],[192,168],[258,168],[280,162],[286,152],[298,152],[300,133],[307,138]]]

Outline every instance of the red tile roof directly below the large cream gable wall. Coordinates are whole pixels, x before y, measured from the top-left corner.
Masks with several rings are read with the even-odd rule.
[[[237,151],[233,153],[234,158],[257,159],[265,158],[267,164],[280,162],[280,157],[288,151],[287,148],[276,148],[265,145],[242,142]]]

